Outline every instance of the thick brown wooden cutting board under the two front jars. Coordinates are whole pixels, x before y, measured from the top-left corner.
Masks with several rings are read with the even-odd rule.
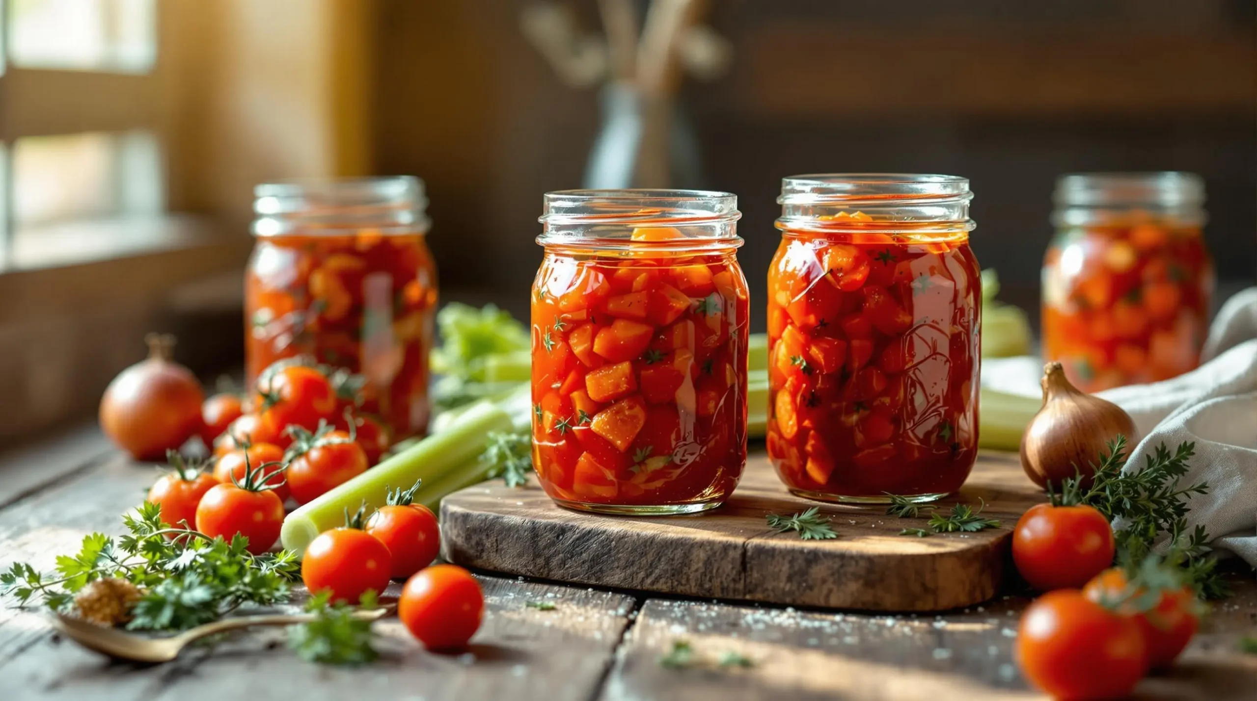
[[[1014,454],[982,454],[950,499],[1002,521],[979,533],[899,535],[920,518],[887,516],[884,506],[820,504],[791,495],[768,457],[754,452],[729,503],[691,516],[626,518],[568,511],[535,484],[500,481],[441,503],[445,559],[479,569],[686,597],[864,611],[943,611],[994,597],[1011,572],[1012,528],[1045,501]],[[801,540],[777,533],[766,514],[820,506],[838,533]]]

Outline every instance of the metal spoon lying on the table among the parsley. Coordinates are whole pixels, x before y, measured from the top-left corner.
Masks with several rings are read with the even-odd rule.
[[[393,611],[393,607],[373,608],[370,611],[356,611],[353,617],[360,621],[376,621],[383,618]],[[226,631],[248,628],[250,626],[290,626],[293,623],[308,623],[314,619],[313,614],[264,614],[264,616],[238,616],[224,618],[195,628],[189,628],[177,636],[167,638],[150,638],[127,633],[117,628],[97,626],[80,618],[73,618],[57,613],[53,626],[65,637],[82,644],[88,649],[119,657],[134,660],[136,662],[170,662],[178,657],[180,651],[189,643]]]

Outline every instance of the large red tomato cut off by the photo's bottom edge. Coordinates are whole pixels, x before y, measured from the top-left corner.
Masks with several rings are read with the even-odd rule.
[[[1058,698],[1120,698],[1148,671],[1139,626],[1076,589],[1040,597],[1022,614],[1017,658],[1026,678]]]

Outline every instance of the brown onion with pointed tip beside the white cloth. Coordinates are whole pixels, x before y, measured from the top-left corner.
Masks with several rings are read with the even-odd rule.
[[[1117,405],[1092,397],[1065,378],[1061,363],[1043,366],[1043,407],[1022,435],[1022,469],[1038,486],[1061,481],[1075,472],[1090,477],[1109,441],[1119,435],[1134,443],[1135,422]]]

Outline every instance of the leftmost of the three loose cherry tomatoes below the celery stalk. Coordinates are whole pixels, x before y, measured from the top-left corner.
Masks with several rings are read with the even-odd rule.
[[[367,589],[388,587],[388,548],[357,528],[326,530],[310,541],[302,558],[302,582],[313,593],[331,592],[332,600],[358,603]]]

